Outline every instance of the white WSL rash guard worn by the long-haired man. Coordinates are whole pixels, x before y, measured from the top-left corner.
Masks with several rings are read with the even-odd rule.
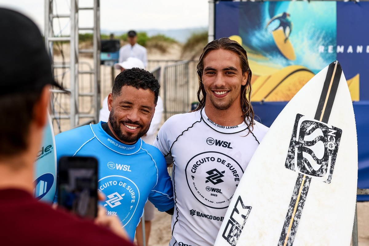
[[[175,209],[170,246],[214,245],[249,160],[268,128],[224,127],[201,111],[170,117],[154,146],[173,163]]]

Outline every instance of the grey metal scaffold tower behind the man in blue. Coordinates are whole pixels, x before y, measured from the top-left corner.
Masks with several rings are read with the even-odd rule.
[[[98,121],[101,44],[99,0],[91,0],[92,3],[90,4],[92,6],[89,7],[80,7],[79,0],[70,0],[70,6],[68,6],[70,13],[66,14],[58,13],[57,7],[60,5],[56,2],[57,0],[45,0],[45,44],[51,58],[54,77],[65,88],[65,91],[51,90],[51,118],[55,133],[58,133]],[[81,11],[92,12],[92,27],[79,26]],[[59,29],[62,29],[61,19],[67,23],[66,27],[70,27],[70,32],[67,35],[62,35],[65,28],[59,33],[55,33],[57,24],[59,24]],[[79,35],[86,32],[92,32],[92,48],[83,49],[79,45]],[[68,44],[69,60],[67,59],[68,50],[63,51],[63,48],[61,48],[63,45],[68,46]],[[56,56],[55,51],[60,54]],[[86,62],[81,59],[81,55],[91,56],[91,54],[93,62]],[[58,62],[60,59],[61,62]],[[86,67],[87,69],[85,69]],[[69,79],[68,76],[65,77],[68,73]],[[85,83],[86,80],[89,80],[87,84]]]

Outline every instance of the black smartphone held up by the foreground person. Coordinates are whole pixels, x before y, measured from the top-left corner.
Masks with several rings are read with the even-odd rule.
[[[97,159],[63,156],[58,165],[58,205],[93,219],[97,216]]]

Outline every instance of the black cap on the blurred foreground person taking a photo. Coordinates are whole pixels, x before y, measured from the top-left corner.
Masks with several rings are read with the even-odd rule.
[[[37,25],[16,11],[0,8],[0,96],[42,89],[60,89]]]

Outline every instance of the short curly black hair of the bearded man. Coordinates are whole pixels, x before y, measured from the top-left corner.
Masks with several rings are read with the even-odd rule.
[[[113,84],[113,98],[120,96],[123,86],[133,86],[137,89],[150,89],[154,92],[154,103],[158,102],[160,84],[154,75],[145,69],[133,67],[131,69],[125,69],[123,72],[117,75]]]

